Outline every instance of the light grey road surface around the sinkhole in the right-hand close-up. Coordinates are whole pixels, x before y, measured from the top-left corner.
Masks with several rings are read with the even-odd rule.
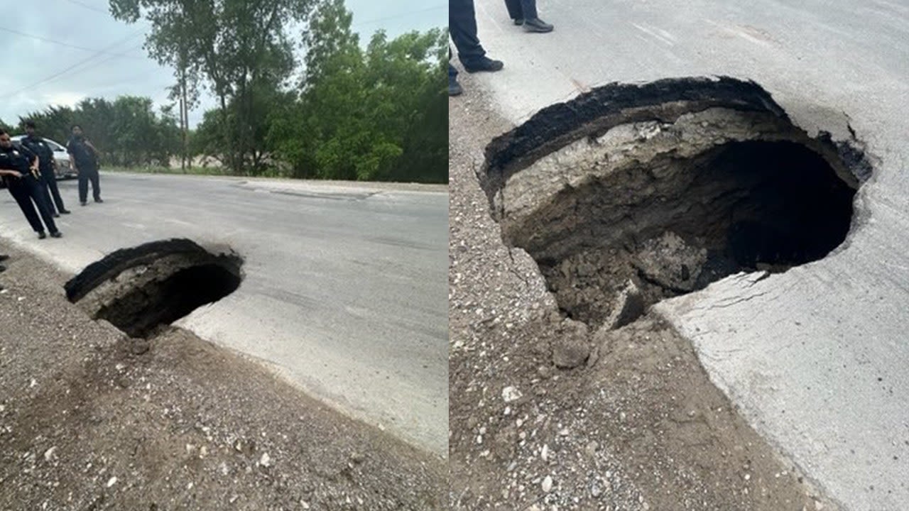
[[[867,144],[874,177],[822,261],[730,277],[660,306],[752,425],[851,510],[909,509],[909,5],[871,0],[540,0],[524,34],[476,0],[502,72],[482,90],[514,123],[593,85],[732,75],[797,125]]]

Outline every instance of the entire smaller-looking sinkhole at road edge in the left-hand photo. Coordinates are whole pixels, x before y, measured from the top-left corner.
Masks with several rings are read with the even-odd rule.
[[[106,255],[65,290],[93,318],[145,337],[233,293],[243,279],[242,265],[229,248],[206,250],[187,239],[169,239]]]

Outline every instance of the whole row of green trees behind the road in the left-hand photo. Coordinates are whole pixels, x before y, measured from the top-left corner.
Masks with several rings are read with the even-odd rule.
[[[175,70],[172,101],[193,107],[202,88],[217,98],[191,155],[237,175],[447,181],[444,30],[380,31],[364,45],[343,0],[108,2],[115,18],[151,26],[145,49]],[[156,114],[123,96],[28,116],[60,141],[83,125],[107,163],[166,165],[182,150],[179,108]]]

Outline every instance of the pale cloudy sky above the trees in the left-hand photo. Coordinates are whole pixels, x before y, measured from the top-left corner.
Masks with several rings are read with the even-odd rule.
[[[395,36],[447,25],[445,0],[346,0],[361,41],[378,29]],[[53,6],[52,6],[53,5]],[[151,97],[167,102],[173,70],[145,56],[148,25],[116,21],[107,0],[17,2],[0,16],[5,50],[0,73],[0,119],[15,125],[20,115],[49,105],[75,105],[85,97]],[[215,106],[205,94],[190,112],[190,125]]]

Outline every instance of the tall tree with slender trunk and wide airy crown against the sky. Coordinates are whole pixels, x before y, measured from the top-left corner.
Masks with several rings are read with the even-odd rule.
[[[255,160],[256,93],[277,89],[294,66],[290,25],[306,21],[316,0],[110,0],[116,19],[151,25],[146,49],[162,65],[200,75],[220,103],[226,164]],[[186,82],[185,86],[192,84]]]

